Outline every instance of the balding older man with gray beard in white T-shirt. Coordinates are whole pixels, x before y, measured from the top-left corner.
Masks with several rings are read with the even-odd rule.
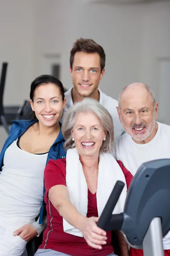
[[[170,158],[170,126],[156,122],[158,102],[150,87],[142,83],[125,87],[117,111],[126,133],[116,140],[113,154],[132,175],[144,162]],[[163,244],[165,256],[170,256],[170,233]],[[142,250],[130,250],[130,256],[142,255]]]

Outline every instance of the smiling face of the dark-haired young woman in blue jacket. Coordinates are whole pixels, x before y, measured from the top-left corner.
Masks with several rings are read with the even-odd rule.
[[[59,87],[56,84],[41,84],[34,91],[34,99],[30,100],[39,124],[52,127],[59,122],[65,107]]]

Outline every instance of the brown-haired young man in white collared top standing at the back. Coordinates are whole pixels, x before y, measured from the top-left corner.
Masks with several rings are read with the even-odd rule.
[[[114,124],[114,137],[119,137],[124,129],[119,122],[116,111],[118,102],[112,99],[98,88],[99,81],[105,73],[105,52],[104,49],[91,39],[80,38],[74,42],[70,52],[70,73],[73,87],[66,93],[65,111],[74,102],[78,102],[86,97],[96,99],[111,114]]]

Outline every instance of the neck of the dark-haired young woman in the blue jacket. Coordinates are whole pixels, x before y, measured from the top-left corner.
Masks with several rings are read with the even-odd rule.
[[[59,125],[59,122],[57,122],[57,124],[55,124],[52,127],[46,127],[39,122],[39,123],[35,123],[35,129],[40,136],[41,135],[44,136],[44,135],[58,134],[61,127]]]

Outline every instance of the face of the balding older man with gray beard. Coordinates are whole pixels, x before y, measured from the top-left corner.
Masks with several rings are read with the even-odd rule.
[[[152,134],[157,112],[158,102],[153,106],[152,97],[145,88],[127,88],[122,94],[119,119],[133,140],[143,141]]]

